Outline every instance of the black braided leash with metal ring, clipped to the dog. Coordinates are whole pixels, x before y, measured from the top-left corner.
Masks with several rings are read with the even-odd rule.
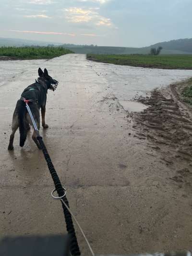
[[[53,163],[51,161],[51,158],[48,154],[48,151],[47,151],[47,148],[43,142],[43,138],[39,135],[39,130],[36,126],[36,122],[34,120],[34,117],[33,117],[33,114],[29,108],[29,102],[30,100],[27,100],[27,99],[23,99],[24,100],[24,103],[26,104],[26,109],[29,113],[29,116],[31,118],[31,121],[33,123],[33,127],[36,131],[36,134],[37,134],[37,140],[42,148],[42,151],[43,151],[43,154],[44,154],[44,157],[45,157],[45,160],[47,162],[47,165],[48,165],[48,170],[50,171],[50,174],[51,174],[51,177],[53,179],[53,182],[55,184],[55,189],[51,192],[51,196],[54,198],[54,199],[60,199],[61,201],[61,204],[62,204],[62,208],[63,208],[63,213],[64,213],[64,216],[65,216],[65,223],[66,223],[66,228],[67,228],[67,232],[68,234],[70,235],[71,237],[71,244],[70,244],[70,251],[71,251],[71,254],[72,256],[80,256],[81,255],[81,252],[80,252],[80,249],[79,249],[79,245],[78,245],[78,242],[77,242],[77,238],[76,238],[76,234],[75,234],[75,230],[74,230],[74,226],[73,226],[73,222],[72,222],[72,217],[73,219],[76,221],[78,227],[80,228],[80,231],[82,232],[83,236],[84,236],[84,239],[91,251],[91,254],[92,256],[95,256],[95,254],[93,253],[93,250],[81,228],[81,226],[79,225],[78,221],[76,220],[76,218],[74,217],[74,215],[72,214],[70,208],[69,208],[69,202],[67,200],[67,197],[66,197],[66,189],[61,185],[61,182],[60,182],[60,178],[53,166]],[[57,191],[58,195],[59,196],[54,196],[54,192]]]

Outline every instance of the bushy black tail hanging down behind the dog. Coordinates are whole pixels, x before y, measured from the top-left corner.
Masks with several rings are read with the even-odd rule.
[[[19,133],[20,133],[20,143],[19,146],[24,146],[24,142],[27,137],[27,129],[25,127],[25,115],[26,108],[23,100],[18,100],[18,117],[19,117]]]

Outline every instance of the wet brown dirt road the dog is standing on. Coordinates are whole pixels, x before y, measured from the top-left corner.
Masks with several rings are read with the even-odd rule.
[[[43,154],[27,137],[7,146],[12,113],[23,89],[46,67],[60,84],[48,92],[40,129],[72,211],[96,253],[127,254],[192,247],[192,200],[132,129],[129,100],[191,76],[191,71],[143,69],[86,61],[69,54],[49,61],[0,61],[0,235],[63,233],[60,202]],[[87,248],[77,232],[83,254]]]

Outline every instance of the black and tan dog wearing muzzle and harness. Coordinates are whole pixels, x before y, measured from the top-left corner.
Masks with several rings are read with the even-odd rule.
[[[45,123],[45,112],[46,112],[46,101],[47,101],[47,93],[48,89],[54,91],[57,88],[58,81],[53,79],[48,75],[47,69],[44,69],[44,72],[39,68],[36,82],[32,85],[26,87],[21,95],[21,98],[17,101],[13,117],[12,117],[12,134],[10,136],[10,142],[8,146],[8,150],[13,149],[13,140],[14,134],[19,127],[20,132],[20,146],[23,147],[27,131],[30,130],[30,125],[32,125],[31,118],[27,112],[25,100],[27,100],[30,110],[35,119],[37,128],[39,130],[40,127],[40,114],[39,110],[41,109],[42,116],[42,126],[43,128],[48,128],[48,125]],[[36,143],[36,146],[41,149],[38,140],[37,133],[34,130],[32,139]]]

